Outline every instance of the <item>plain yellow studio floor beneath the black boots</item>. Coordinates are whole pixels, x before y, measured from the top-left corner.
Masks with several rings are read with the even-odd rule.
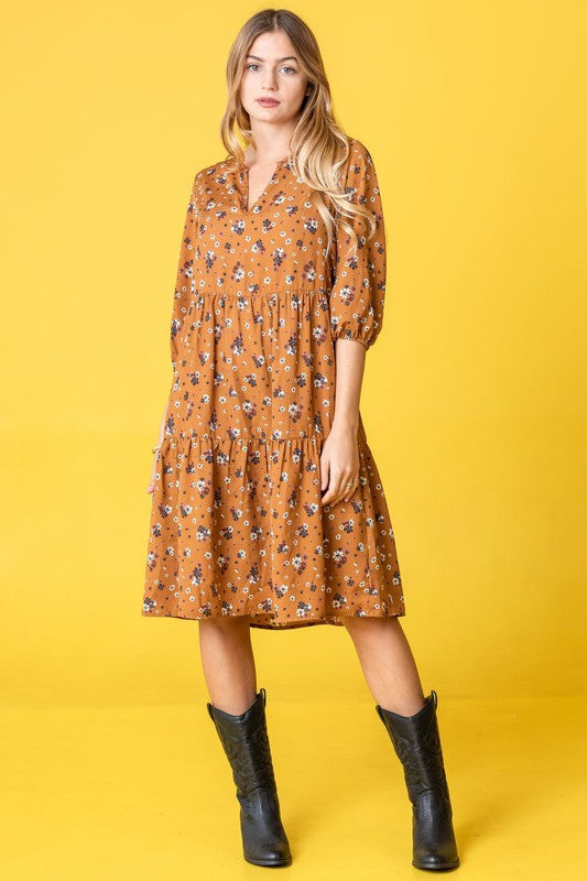
[[[461,864],[411,866],[401,765],[372,703],[308,709],[268,696],[293,864],[250,866],[205,699],[191,706],[4,708],[2,877],[475,881],[583,874],[587,786],[581,697],[442,695],[441,737]]]

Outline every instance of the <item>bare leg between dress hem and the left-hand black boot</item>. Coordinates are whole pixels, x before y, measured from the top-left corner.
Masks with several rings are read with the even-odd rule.
[[[238,716],[257,696],[249,616],[199,621],[202,667],[215,707]]]

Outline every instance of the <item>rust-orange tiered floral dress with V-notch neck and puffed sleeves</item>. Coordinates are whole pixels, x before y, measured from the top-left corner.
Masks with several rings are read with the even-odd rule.
[[[359,483],[322,504],[335,340],[382,326],[385,233],[370,153],[350,139],[347,198],[377,230],[326,254],[312,189],[282,160],[247,208],[248,168],[194,180],[171,323],[173,382],[152,493],[142,614],[251,627],[405,614],[383,487],[359,415]],[[346,251],[345,251],[346,254]]]

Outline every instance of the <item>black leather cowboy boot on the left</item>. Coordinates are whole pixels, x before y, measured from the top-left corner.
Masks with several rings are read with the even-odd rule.
[[[261,688],[240,716],[209,703],[206,706],[232,769],[244,859],[256,866],[290,866],[292,855],[280,816],[265,703],[265,689]]]

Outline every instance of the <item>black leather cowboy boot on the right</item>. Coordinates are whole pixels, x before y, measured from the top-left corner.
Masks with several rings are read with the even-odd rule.
[[[412,866],[456,869],[460,860],[453,829],[453,808],[443,762],[434,689],[413,716],[400,716],[376,705],[398,758],[403,764],[412,803]]]

